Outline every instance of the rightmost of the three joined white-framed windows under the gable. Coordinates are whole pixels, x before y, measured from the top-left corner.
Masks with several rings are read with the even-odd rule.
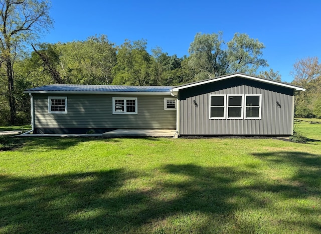
[[[245,119],[261,119],[262,95],[246,94],[245,95]]]

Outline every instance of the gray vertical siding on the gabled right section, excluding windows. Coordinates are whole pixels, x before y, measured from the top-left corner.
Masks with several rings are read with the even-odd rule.
[[[211,94],[261,94],[261,119],[210,119]],[[291,135],[293,95],[293,89],[243,78],[182,89],[180,135]]]

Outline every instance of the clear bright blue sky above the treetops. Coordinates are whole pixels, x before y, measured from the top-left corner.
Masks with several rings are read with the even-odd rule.
[[[161,47],[169,55],[189,55],[196,33],[246,33],[265,45],[263,58],[282,81],[297,59],[321,58],[321,1],[109,1],[52,0],[54,28],[42,42],[83,41],[105,34],[121,45],[145,39],[148,49]]]

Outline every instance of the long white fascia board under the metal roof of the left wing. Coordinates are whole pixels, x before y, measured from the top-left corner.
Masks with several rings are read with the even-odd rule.
[[[121,94],[121,95],[169,95],[171,92],[108,92],[108,91],[24,91],[34,94]]]

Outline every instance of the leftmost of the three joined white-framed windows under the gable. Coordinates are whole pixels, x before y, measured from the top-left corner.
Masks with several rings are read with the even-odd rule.
[[[226,95],[210,95],[210,119],[225,119]]]

